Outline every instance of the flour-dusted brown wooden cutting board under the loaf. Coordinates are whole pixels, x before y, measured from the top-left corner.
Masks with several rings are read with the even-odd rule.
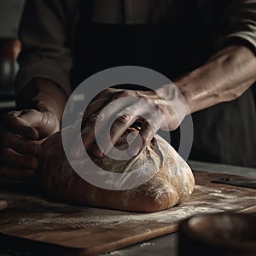
[[[33,195],[27,184],[15,185],[16,189],[9,185],[1,187],[0,200],[8,201],[9,208],[0,212],[0,243],[37,245],[68,255],[97,255],[172,233],[181,220],[195,214],[256,212],[255,189],[211,183],[212,179],[226,176],[224,174],[194,174],[195,192],[189,201],[154,213],[47,201]]]

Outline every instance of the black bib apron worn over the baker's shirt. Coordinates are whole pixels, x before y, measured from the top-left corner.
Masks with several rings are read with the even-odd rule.
[[[212,39],[193,1],[187,2],[184,19],[172,24],[105,25],[91,24],[88,2],[81,1],[72,84],[77,86],[109,67],[148,67],[173,80],[202,65],[212,54]],[[194,142],[189,159],[256,167],[256,111],[251,89],[236,101],[192,117]],[[177,149],[179,131],[171,135]]]

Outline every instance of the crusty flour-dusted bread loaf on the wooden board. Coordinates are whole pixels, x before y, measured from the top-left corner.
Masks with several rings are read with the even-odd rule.
[[[134,128],[130,131],[138,132]],[[127,148],[126,137],[130,131],[119,139],[116,148]],[[139,154],[137,160],[119,161],[107,156],[94,159],[91,156],[96,165],[109,172],[132,172],[149,158],[149,167],[156,168],[159,172],[148,182],[126,190],[101,189],[79,177],[67,161],[62,148],[61,132],[49,137],[43,143],[43,148],[44,155],[36,179],[37,184],[48,195],[61,201],[124,211],[157,212],[183,203],[195,187],[195,179],[187,163],[158,135],[155,135],[143,153]]]

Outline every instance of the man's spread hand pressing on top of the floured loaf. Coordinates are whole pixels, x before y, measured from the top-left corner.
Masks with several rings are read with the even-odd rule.
[[[106,106],[108,107],[105,108]],[[79,143],[75,141],[72,155],[74,158],[81,157],[84,149],[90,148],[97,139],[101,141],[102,146],[99,148],[98,145],[94,145],[93,153],[101,158],[110,152],[131,125],[139,122],[139,136],[128,150],[134,156],[146,148],[158,130],[175,130],[188,112],[183,97],[173,84],[156,91],[108,88],[96,96],[86,109],[83,118],[84,128],[81,131],[84,148],[78,148]],[[110,132],[107,129],[108,125],[111,126]]]

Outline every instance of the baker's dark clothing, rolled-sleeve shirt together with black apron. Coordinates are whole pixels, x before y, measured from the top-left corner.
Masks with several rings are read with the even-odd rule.
[[[177,79],[231,39],[256,52],[255,24],[252,0],[27,0],[17,91],[41,77],[70,93],[91,74],[123,65]],[[193,114],[193,121],[191,159],[256,166],[251,89],[236,101]],[[177,149],[178,131],[172,138]]]

